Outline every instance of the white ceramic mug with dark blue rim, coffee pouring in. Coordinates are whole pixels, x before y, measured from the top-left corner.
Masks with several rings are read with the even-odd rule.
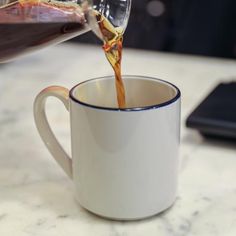
[[[118,109],[114,77],[82,82],[69,91],[44,89],[34,103],[36,126],[52,156],[73,180],[78,202],[112,219],[153,216],[175,201],[180,91],[163,80],[124,76],[127,109]],[[48,97],[70,113],[72,158],[52,133]]]

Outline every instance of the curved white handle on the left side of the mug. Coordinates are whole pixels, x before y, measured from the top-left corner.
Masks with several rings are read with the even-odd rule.
[[[47,120],[45,105],[48,97],[58,98],[69,111],[69,90],[60,86],[51,86],[41,91],[34,101],[34,120],[41,139],[49,152],[72,179],[72,159],[56,139]]]

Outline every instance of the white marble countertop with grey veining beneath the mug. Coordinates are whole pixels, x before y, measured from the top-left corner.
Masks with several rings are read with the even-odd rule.
[[[182,91],[179,193],[175,205],[137,222],[115,222],[75,202],[73,185],[43,146],[32,103],[48,85],[111,74],[100,48],[60,45],[0,65],[1,236],[235,236],[236,144],[204,140],[186,116],[219,82],[236,80],[236,62],[125,50],[123,73],[160,77]],[[49,101],[50,119],[69,151],[68,114]]]

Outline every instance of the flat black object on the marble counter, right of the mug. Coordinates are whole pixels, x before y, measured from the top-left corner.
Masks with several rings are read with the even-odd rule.
[[[219,84],[190,114],[186,125],[204,136],[236,139],[236,82]]]

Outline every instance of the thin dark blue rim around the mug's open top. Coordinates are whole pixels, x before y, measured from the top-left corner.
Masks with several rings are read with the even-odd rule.
[[[166,102],[163,102],[163,103],[159,103],[159,104],[155,104],[155,105],[150,105],[150,106],[145,106],[145,107],[131,107],[131,108],[115,108],[115,107],[102,107],[102,106],[96,106],[96,105],[92,105],[92,104],[88,104],[86,102],[82,102],[80,101],[79,99],[75,98],[75,96],[73,95],[73,92],[76,88],[78,88],[79,86],[83,85],[83,84],[86,84],[88,82],[91,82],[91,81],[95,81],[95,80],[102,80],[102,79],[108,79],[108,78],[114,78],[114,76],[104,76],[104,77],[98,77],[98,78],[93,78],[93,79],[90,79],[90,80],[86,80],[86,81],[83,81],[77,85],[75,85],[71,90],[70,90],[70,98],[80,104],[80,105],[83,105],[83,106],[86,106],[86,107],[90,107],[90,108],[95,108],[95,109],[99,109],[99,110],[106,110],[106,111],[124,111],[124,112],[132,112],[132,111],[144,111],[144,110],[153,110],[153,109],[158,109],[158,108],[161,108],[161,107],[165,107],[165,106],[168,106],[168,105],[171,105],[172,103],[176,102],[180,97],[181,97],[181,92],[180,90],[178,89],[177,86],[175,86],[174,84],[168,82],[168,81],[165,81],[165,80],[162,80],[162,79],[157,79],[157,78],[153,78],[153,77],[148,77],[148,76],[141,76],[141,75],[123,75],[123,77],[126,79],[129,79],[129,78],[137,78],[137,79],[145,79],[145,80],[155,80],[155,81],[159,81],[159,82],[162,82],[162,83],[165,83],[171,87],[173,87],[174,89],[176,89],[176,95],[166,101]]]

